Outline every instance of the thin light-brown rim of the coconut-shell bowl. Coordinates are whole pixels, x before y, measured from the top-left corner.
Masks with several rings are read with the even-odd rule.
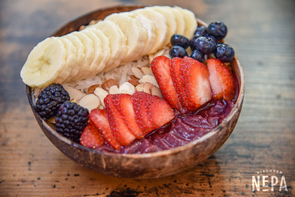
[[[97,9],[97,10],[94,10],[92,12],[88,12],[86,14],[83,14],[79,17],[76,17],[74,18],[73,20],[71,20],[70,22],[74,22],[76,21],[77,19],[80,19],[84,16],[87,16],[87,15],[90,15],[90,14],[93,14],[93,13],[96,13],[96,12],[101,12],[101,11],[104,11],[106,9],[114,9],[114,8],[117,8],[119,6],[152,6],[151,4],[119,4],[119,5],[115,5],[115,6],[109,6],[109,7],[104,7],[104,8],[100,8],[100,9]],[[207,23],[203,22],[202,20],[197,19],[197,22],[198,22],[198,25],[201,24],[201,25],[206,25],[208,26]],[[68,22],[68,23],[70,23]],[[68,24],[66,23],[66,24]],[[56,30],[55,32],[58,32],[60,31],[61,29],[63,29],[65,27],[65,25],[62,25],[58,30]],[[199,139],[195,139],[194,141],[191,141],[185,145],[181,145],[181,146],[178,146],[178,147],[175,147],[175,148],[171,148],[171,149],[168,149],[168,150],[162,150],[162,151],[158,151],[158,152],[150,152],[150,153],[116,153],[116,152],[106,152],[106,151],[103,151],[103,150],[97,150],[97,149],[91,149],[91,148],[87,148],[81,144],[78,144],[76,142],[72,142],[70,139],[58,134],[58,132],[53,129],[52,127],[50,127],[49,124],[47,124],[48,121],[45,121],[44,119],[42,119],[42,117],[35,111],[34,107],[33,107],[33,94],[32,94],[32,88],[30,86],[27,86],[26,85],[26,91],[27,91],[27,98],[28,98],[28,101],[29,101],[29,104],[31,106],[31,109],[33,111],[33,113],[35,115],[38,116],[38,118],[42,121],[42,125],[50,131],[51,134],[53,134],[55,137],[57,137],[59,140],[65,142],[66,144],[68,145],[71,145],[73,147],[76,147],[80,150],[84,150],[84,151],[87,151],[87,152],[92,152],[94,154],[99,154],[99,155],[105,155],[105,156],[109,156],[109,157],[124,157],[124,158],[149,158],[149,157],[158,157],[158,156],[166,156],[166,155],[170,155],[170,154],[176,154],[178,152],[182,152],[188,148],[191,148],[207,139],[209,139],[211,136],[213,136],[214,134],[218,133],[222,127],[224,127],[229,121],[230,119],[238,112],[240,106],[242,105],[242,102],[243,102],[243,98],[244,98],[244,93],[245,93],[245,80],[244,80],[244,74],[243,74],[243,70],[242,70],[242,67],[241,67],[241,64],[240,64],[240,61],[238,60],[236,54],[235,54],[235,57],[233,58],[233,61],[236,61],[237,62],[237,67],[238,67],[238,70],[240,71],[240,84],[238,83],[239,85],[239,93],[238,93],[238,96],[237,96],[237,102],[235,103],[235,106],[233,107],[232,111],[230,112],[230,114],[226,117],[226,119],[224,119],[224,121],[222,123],[220,123],[219,125],[217,125],[216,128],[214,128],[212,131],[208,132],[207,134],[201,136]]]

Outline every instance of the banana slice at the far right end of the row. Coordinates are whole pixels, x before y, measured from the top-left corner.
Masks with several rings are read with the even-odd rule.
[[[198,27],[198,23],[197,23],[195,14],[188,9],[183,9],[178,6],[174,6],[173,8],[182,12],[183,18],[185,21],[185,31],[184,31],[183,35],[185,37],[191,39],[194,36],[194,32],[196,31],[196,29]]]

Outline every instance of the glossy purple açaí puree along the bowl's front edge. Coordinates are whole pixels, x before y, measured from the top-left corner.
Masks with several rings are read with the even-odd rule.
[[[120,151],[114,150],[108,144],[102,145],[98,150],[122,154],[149,153],[172,149],[199,139],[216,128],[230,114],[237,99],[237,82],[235,87],[236,96],[233,101],[211,99],[193,114],[178,115],[168,125],[156,129],[143,139],[135,139]]]

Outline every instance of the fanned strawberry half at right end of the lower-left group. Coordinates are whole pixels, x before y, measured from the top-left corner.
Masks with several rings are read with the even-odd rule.
[[[175,117],[172,107],[158,96],[135,91],[132,94],[132,103],[137,125],[145,135]]]

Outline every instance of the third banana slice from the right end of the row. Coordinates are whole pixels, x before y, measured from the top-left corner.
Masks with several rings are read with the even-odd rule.
[[[154,9],[155,11],[163,14],[166,18],[166,24],[168,26],[168,33],[167,33],[166,39],[161,47],[161,48],[163,48],[164,46],[169,45],[171,36],[176,33],[177,23],[175,20],[175,15],[171,10],[169,10],[163,6],[152,6],[151,8]]]

